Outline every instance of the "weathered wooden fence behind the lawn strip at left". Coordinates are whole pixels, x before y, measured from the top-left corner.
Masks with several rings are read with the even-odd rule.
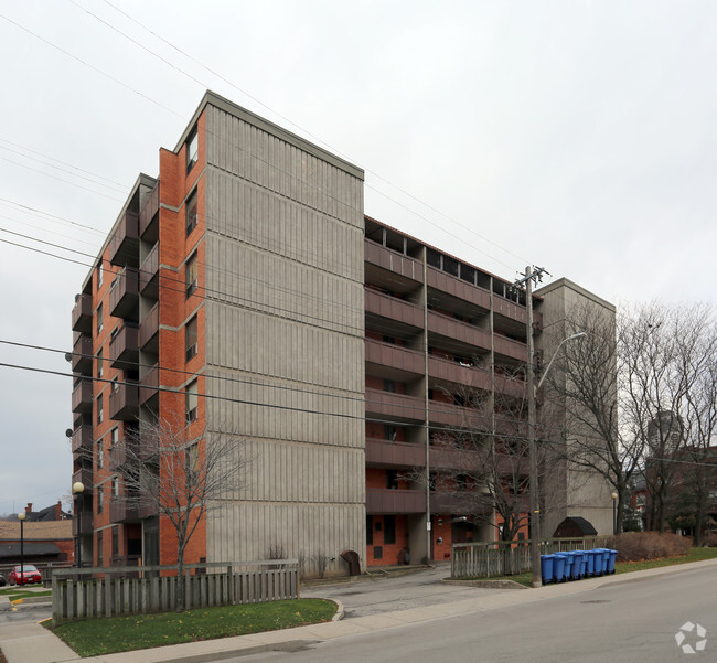
[[[55,569],[52,622],[174,610],[176,566]],[[299,598],[296,559],[185,566],[185,609]]]

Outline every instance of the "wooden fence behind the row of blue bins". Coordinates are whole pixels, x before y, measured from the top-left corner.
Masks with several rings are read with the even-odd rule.
[[[541,555],[603,547],[608,537],[552,538]],[[531,542],[458,543],[451,546],[451,578],[513,576],[531,570]]]

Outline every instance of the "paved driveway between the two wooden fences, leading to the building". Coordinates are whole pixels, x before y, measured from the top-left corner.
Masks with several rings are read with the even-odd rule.
[[[421,569],[403,576],[385,576],[376,579],[360,577],[351,582],[302,587],[302,598],[338,599],[343,603],[344,619],[381,614],[395,610],[408,610],[436,606],[481,596],[494,596],[520,589],[483,589],[443,585],[450,576],[450,566]]]

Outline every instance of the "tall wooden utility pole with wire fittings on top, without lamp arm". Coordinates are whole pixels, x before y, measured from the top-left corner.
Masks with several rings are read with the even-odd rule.
[[[536,267],[535,271],[528,265],[522,279],[513,284],[514,287],[525,287],[525,309],[527,311],[527,366],[525,382],[527,388],[527,443],[529,457],[529,492],[531,492],[531,571],[533,587],[541,587],[541,506],[538,502],[538,479],[537,479],[537,449],[535,446],[535,349],[533,344],[533,281],[543,280],[543,274],[547,274],[543,267]]]

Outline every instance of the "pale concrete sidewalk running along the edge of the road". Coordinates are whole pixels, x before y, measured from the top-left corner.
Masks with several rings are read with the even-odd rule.
[[[265,651],[290,651],[307,642],[334,640],[346,635],[370,633],[436,619],[447,619],[470,612],[483,612],[511,606],[532,603],[559,596],[570,596],[581,591],[621,582],[634,582],[667,574],[677,574],[698,568],[716,566],[717,559],[693,562],[665,566],[644,571],[589,578],[564,585],[548,585],[529,591],[501,590],[490,597],[464,599],[425,608],[414,608],[378,616],[358,617],[345,621],[269,631],[254,635],[239,635],[188,644],[139,650],[120,654],[108,654],[92,659],[79,659],[67,645],[40,624],[17,624],[10,637],[0,639],[0,649],[8,663],[205,663],[229,659],[239,654]]]

